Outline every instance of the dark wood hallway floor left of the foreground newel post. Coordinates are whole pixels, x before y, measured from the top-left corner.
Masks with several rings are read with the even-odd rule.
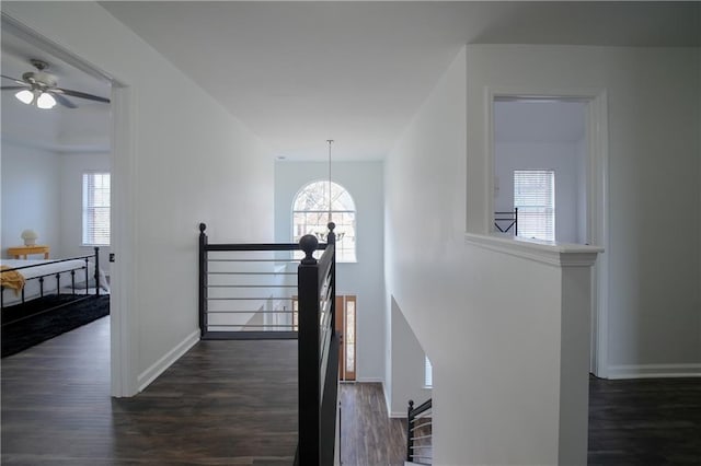
[[[103,318],[2,360],[3,465],[291,465],[297,341],[203,341],[111,399],[108,331]]]

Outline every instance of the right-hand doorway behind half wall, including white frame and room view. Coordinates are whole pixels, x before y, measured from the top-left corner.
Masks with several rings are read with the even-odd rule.
[[[606,93],[491,94],[492,212],[506,234],[606,248]],[[493,232],[504,230],[495,214]],[[504,233],[501,233],[504,234]],[[590,372],[607,376],[607,258],[591,277]]]

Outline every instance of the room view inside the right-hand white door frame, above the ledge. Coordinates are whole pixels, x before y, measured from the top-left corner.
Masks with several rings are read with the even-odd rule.
[[[517,212],[518,236],[587,243],[586,106],[494,102],[494,209]]]

